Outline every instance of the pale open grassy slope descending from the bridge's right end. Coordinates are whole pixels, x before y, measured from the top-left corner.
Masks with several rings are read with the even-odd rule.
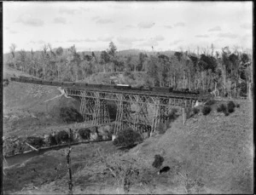
[[[200,179],[203,192],[252,193],[253,113],[243,103],[236,112],[224,117],[213,111],[208,116],[189,118],[185,126],[178,118],[165,135],[137,146],[137,153],[148,164],[154,155],[165,151],[165,165],[190,179]],[[167,182],[166,182],[167,185]],[[203,189],[202,189],[203,190]]]

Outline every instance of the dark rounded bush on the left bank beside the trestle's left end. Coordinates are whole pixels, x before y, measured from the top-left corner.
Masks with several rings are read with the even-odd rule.
[[[60,116],[66,123],[83,122],[83,116],[73,107],[61,107]]]

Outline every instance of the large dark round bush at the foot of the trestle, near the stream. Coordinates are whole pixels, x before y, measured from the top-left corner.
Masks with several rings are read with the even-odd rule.
[[[137,142],[142,142],[142,136],[131,128],[120,131],[117,138],[113,141],[114,146],[129,147],[134,146]]]

